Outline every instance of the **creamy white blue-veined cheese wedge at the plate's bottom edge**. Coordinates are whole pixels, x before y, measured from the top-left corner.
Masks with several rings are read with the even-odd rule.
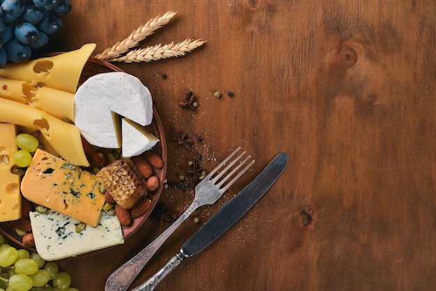
[[[98,226],[86,225],[80,233],[76,226],[81,221],[54,210],[47,214],[30,212],[36,250],[45,260],[88,253],[108,246],[123,244],[123,231],[116,216],[102,212]]]

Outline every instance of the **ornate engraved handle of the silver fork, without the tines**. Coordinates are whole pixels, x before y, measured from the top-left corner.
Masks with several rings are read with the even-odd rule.
[[[125,291],[132,284],[135,278],[137,278],[139,272],[147,264],[150,258],[157,252],[160,246],[164,244],[166,239],[182,224],[183,221],[189,217],[194,210],[198,208],[198,202],[194,202],[188,207],[188,209],[176,220],[169,228],[159,235],[153,242],[151,242],[145,249],[137,253],[133,258],[125,262],[124,265],[116,269],[109,278],[107,278],[105,291]]]

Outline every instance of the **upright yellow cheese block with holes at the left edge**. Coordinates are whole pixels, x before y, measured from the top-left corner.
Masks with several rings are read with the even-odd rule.
[[[10,173],[15,164],[17,129],[15,125],[0,123],[0,221],[21,218],[20,176]]]

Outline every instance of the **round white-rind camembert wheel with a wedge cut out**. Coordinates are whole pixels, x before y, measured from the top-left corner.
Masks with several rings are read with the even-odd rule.
[[[84,138],[101,148],[120,148],[120,121],[129,118],[140,125],[153,119],[150,91],[125,72],[96,74],[75,94],[75,124]]]

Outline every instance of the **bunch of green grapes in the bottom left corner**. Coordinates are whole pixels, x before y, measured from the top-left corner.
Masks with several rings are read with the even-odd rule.
[[[79,291],[70,285],[70,274],[59,272],[56,262],[15,249],[0,235],[0,291]]]

